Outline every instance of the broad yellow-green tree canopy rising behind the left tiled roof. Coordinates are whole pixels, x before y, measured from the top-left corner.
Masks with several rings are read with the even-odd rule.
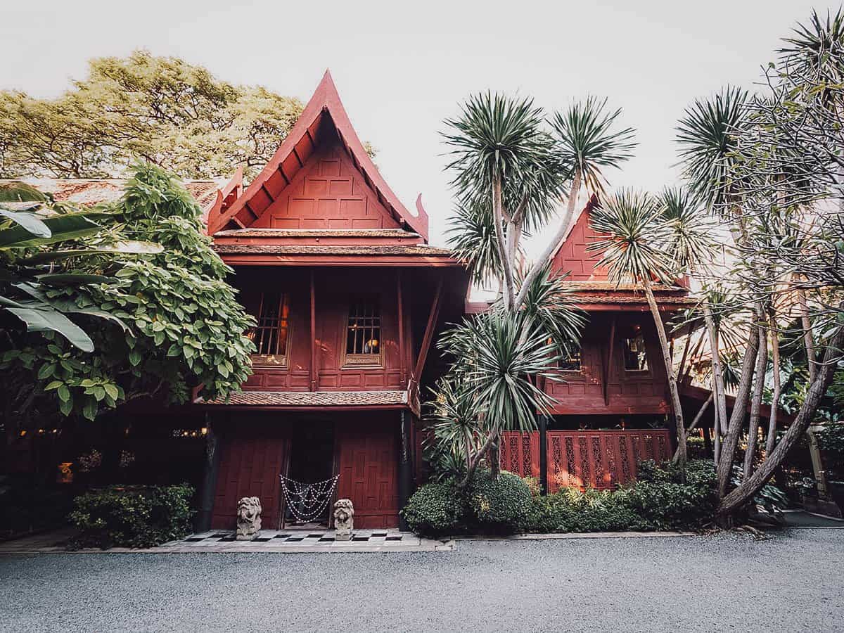
[[[0,92],[0,177],[122,176],[138,157],[183,178],[253,176],[301,109],[178,57],[95,58],[57,99]]]

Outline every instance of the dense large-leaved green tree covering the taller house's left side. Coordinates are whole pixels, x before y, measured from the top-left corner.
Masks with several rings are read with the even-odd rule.
[[[251,372],[253,346],[243,334],[253,320],[226,283],[232,271],[203,235],[200,214],[173,176],[155,165],[137,165],[123,197],[97,220],[111,240],[149,241],[160,249],[142,256],[82,256],[99,246],[82,236],[73,257],[56,257],[46,247],[26,255],[30,262],[49,260],[57,274],[97,277],[41,293],[50,306],[72,307],[86,320],[82,325],[94,349],[80,349],[56,332],[36,335],[3,322],[7,419],[94,419],[137,398],[183,403],[196,387],[203,398],[226,398],[240,388]],[[92,327],[92,311],[110,322]]]

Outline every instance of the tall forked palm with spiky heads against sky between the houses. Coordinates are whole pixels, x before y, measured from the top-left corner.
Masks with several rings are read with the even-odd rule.
[[[602,192],[603,170],[630,158],[633,130],[615,130],[619,116],[606,100],[590,97],[546,122],[533,100],[488,92],[470,97],[461,116],[446,120],[452,148],[446,169],[459,203],[450,244],[476,279],[500,279],[507,310],[524,303],[568,230],[582,187]],[[554,238],[518,284],[522,235],[543,230],[564,197]]]

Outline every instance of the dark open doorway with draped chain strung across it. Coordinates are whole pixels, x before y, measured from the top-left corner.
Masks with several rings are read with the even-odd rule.
[[[290,499],[284,499],[285,527],[327,527],[331,516],[334,477],[334,425],[327,420],[303,419],[294,423],[290,437],[287,468]],[[308,490],[311,486],[311,490]],[[306,499],[297,492],[306,490]],[[324,503],[323,500],[327,502]],[[311,517],[307,508],[318,504],[321,510]],[[305,520],[303,520],[303,517]]]

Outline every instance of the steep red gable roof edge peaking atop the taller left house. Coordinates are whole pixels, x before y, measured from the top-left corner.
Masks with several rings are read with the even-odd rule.
[[[293,129],[273,154],[246,192],[235,199],[219,214],[210,214],[208,235],[214,235],[227,225],[245,228],[252,225],[273,203],[280,192],[288,187],[296,174],[306,165],[311,154],[317,150],[320,135],[337,133],[344,149],[348,152],[354,168],[360,172],[366,186],[375,192],[378,203],[392,215],[400,226],[406,226],[428,240],[428,216],[422,207],[421,197],[416,200],[418,215],[411,214],[399,201],[387,182],[381,177],[375,164],[360,143],[354,127],[349,121],[337,88],[326,71],[316,92],[308,101]],[[392,220],[391,220],[392,221]]]

